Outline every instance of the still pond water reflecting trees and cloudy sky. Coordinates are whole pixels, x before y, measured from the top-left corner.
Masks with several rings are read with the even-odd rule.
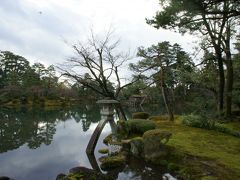
[[[85,149],[99,120],[100,110],[94,106],[0,109],[0,176],[54,180],[76,166],[92,169]],[[95,149],[97,163],[97,150],[105,147],[102,140],[109,133],[107,124]],[[130,159],[122,172],[112,174],[116,179],[161,179],[166,172]]]

